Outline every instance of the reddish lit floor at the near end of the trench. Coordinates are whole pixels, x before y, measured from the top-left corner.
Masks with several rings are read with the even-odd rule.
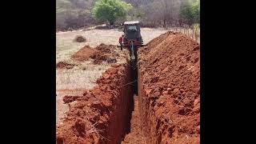
[[[134,111],[132,112],[130,120],[130,133],[126,134],[124,140],[121,142],[130,143],[130,144],[146,144],[144,138],[142,137],[141,127],[140,127],[140,118],[138,111],[138,95],[134,94]]]

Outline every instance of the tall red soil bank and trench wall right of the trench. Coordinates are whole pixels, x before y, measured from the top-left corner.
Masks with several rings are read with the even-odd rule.
[[[138,94],[146,143],[200,143],[200,46],[167,32],[138,50]]]

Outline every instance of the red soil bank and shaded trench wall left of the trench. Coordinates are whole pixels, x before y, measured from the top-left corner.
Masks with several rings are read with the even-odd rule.
[[[133,108],[129,66],[114,65],[98,78],[98,86],[70,105],[57,126],[56,143],[120,143]],[[68,99],[68,98],[67,98]],[[73,99],[71,100],[73,101]]]

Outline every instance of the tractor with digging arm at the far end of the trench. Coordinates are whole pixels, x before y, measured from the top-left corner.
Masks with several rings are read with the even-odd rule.
[[[124,22],[123,32],[124,34],[119,38],[121,50],[122,48],[128,48],[130,51],[130,60],[137,62],[138,47],[143,45],[139,22]]]

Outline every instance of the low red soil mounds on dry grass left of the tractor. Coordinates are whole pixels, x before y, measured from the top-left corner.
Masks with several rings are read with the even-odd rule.
[[[95,65],[101,64],[102,62],[114,63],[117,62],[119,56],[115,51],[116,49],[116,46],[103,43],[94,49],[90,48],[90,46],[85,46],[72,55],[72,58],[78,61],[86,61],[92,58]]]

